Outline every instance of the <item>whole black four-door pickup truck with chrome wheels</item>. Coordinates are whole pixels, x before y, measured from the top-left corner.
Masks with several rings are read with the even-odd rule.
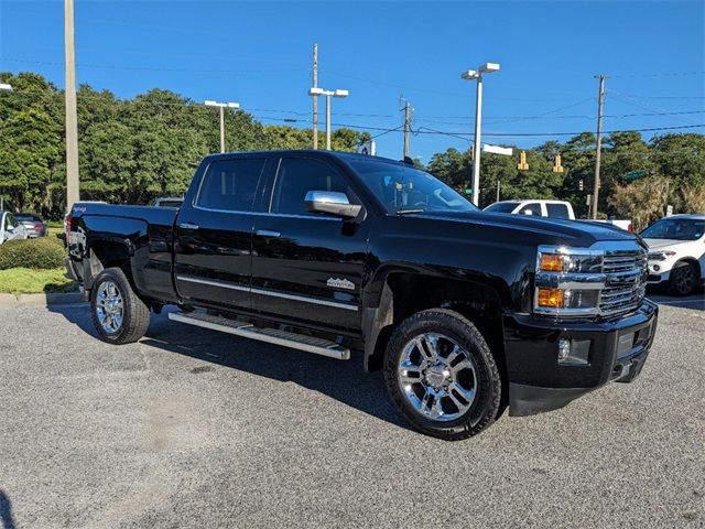
[[[404,162],[209,155],[181,208],[77,203],[69,276],[106,342],[150,312],[383,369],[415,428],[457,440],[640,373],[647,250],[606,225],[485,213]]]

